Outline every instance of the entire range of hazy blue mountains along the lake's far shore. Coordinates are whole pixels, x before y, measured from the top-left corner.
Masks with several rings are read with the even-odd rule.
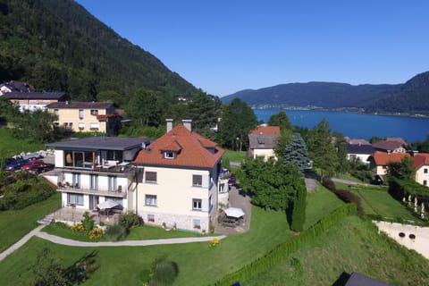
[[[330,110],[358,108],[368,113],[429,114],[429,71],[404,84],[288,83],[241,90],[221,100],[230,103],[236,97],[255,107],[312,106]]]

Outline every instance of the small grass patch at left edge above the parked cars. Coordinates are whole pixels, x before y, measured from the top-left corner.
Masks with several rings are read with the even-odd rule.
[[[25,140],[14,139],[12,131],[6,128],[0,128],[0,157],[9,157],[20,154],[21,152],[33,152],[46,149],[46,146],[38,143],[29,143]]]

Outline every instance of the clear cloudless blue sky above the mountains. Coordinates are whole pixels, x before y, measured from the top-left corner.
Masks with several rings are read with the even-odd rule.
[[[429,1],[77,0],[209,94],[429,71]]]

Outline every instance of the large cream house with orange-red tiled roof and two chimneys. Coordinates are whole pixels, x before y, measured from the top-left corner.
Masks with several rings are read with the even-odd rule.
[[[136,212],[145,222],[208,231],[218,210],[223,149],[191,130],[183,120],[133,161],[144,169]]]

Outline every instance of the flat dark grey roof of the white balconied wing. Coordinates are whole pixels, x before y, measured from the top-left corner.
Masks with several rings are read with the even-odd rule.
[[[47,147],[55,147],[60,150],[128,150],[141,147],[142,143],[148,144],[150,141],[146,137],[122,138],[94,136],[84,139],[75,139],[46,144]]]

